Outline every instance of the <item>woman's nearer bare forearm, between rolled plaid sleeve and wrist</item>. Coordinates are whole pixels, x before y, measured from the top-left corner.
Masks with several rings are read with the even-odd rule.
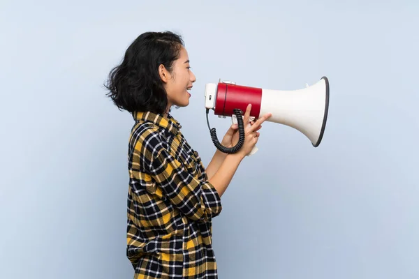
[[[209,179],[209,182],[214,186],[220,197],[226,191],[242,160],[243,156],[240,153],[228,154],[214,176]]]

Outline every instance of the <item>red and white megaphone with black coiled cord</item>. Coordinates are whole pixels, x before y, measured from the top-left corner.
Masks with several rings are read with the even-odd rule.
[[[224,153],[236,153],[244,142],[243,112],[251,103],[251,119],[268,112],[272,116],[266,121],[281,123],[299,130],[314,147],[321,144],[325,132],[329,109],[329,81],[327,77],[306,88],[298,90],[272,90],[237,85],[235,82],[221,81],[205,84],[205,107],[207,124],[212,142]],[[240,139],[236,146],[222,146],[216,137],[216,129],[210,128],[208,112],[214,111],[219,117],[232,117],[239,126]],[[255,153],[257,148],[251,152]]]

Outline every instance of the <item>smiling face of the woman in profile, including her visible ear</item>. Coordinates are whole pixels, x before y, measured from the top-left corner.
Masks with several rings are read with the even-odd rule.
[[[188,92],[196,81],[189,66],[189,56],[185,48],[180,50],[179,59],[173,63],[172,73],[168,73],[166,68],[159,68],[161,79],[165,83],[168,94],[168,109],[172,105],[186,107],[189,105],[191,94]]]

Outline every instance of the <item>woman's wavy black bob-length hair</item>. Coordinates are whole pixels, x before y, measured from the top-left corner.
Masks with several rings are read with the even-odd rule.
[[[119,110],[163,114],[168,98],[158,69],[163,64],[171,72],[182,46],[182,37],[170,31],[142,33],[128,47],[122,63],[110,71],[106,95]]]

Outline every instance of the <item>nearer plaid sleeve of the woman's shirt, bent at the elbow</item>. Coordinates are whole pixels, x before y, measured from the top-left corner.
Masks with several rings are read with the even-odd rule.
[[[221,212],[221,199],[214,186],[189,174],[165,147],[155,149],[150,172],[170,202],[191,220],[207,222]]]

